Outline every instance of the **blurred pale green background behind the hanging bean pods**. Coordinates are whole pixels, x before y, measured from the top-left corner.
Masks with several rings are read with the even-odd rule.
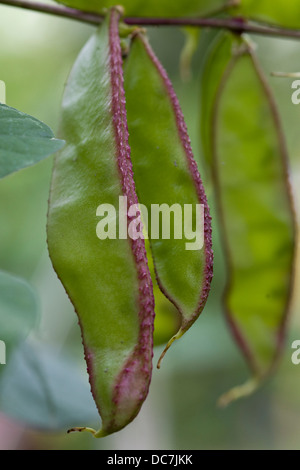
[[[7,104],[57,132],[64,84],[76,55],[93,31],[93,27],[70,20],[0,5],[0,80],[6,83]],[[182,31],[149,28],[149,35],[178,93],[201,169],[199,72],[210,33],[200,36],[188,82],[179,74]],[[270,74],[300,72],[300,42],[252,40],[280,108],[299,214],[300,105],[291,103],[293,80]],[[286,349],[276,374],[252,397],[226,409],[216,405],[222,393],[248,378],[249,371],[223,317],[220,298],[225,271],[215,224],[215,276],[209,302],[193,328],[166,355],[161,370],[154,368],[150,393],[137,419],[102,440],[66,435],[72,406],[74,419],[90,419],[72,425],[97,426],[97,414],[88,393],[77,318],[53,272],[46,247],[51,168],[52,158],[48,158],[0,183],[0,267],[34,286],[42,310],[26,344],[7,358],[6,366],[0,365],[0,372],[6,375],[0,389],[0,449],[299,449],[300,365],[291,362],[291,343],[300,339],[297,277]],[[214,212],[208,182],[206,189]],[[161,349],[155,351],[154,364]],[[29,363],[32,367],[27,370]],[[45,388],[42,394],[33,387],[39,374]],[[77,375],[82,389],[79,387],[78,396],[70,403],[72,393],[76,395],[77,382],[73,384],[72,380]],[[60,403],[60,412],[55,400]]]

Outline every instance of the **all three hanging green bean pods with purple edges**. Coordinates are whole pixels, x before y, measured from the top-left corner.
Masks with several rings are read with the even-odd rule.
[[[77,4],[70,0],[78,7],[82,0]],[[55,159],[48,217],[50,256],[78,314],[102,418],[100,431],[76,429],[96,437],[132,421],[148,393],[156,289],[149,266],[180,317],[159,367],[202,312],[213,264],[211,217],[178,99],[145,33],[128,29],[124,52],[119,26],[120,11],[112,8],[70,74],[60,131],[67,144]],[[252,370],[250,381],[221,398],[225,405],[251,393],[277,364],[291,304],[296,224],[280,119],[252,45],[242,36],[217,35],[202,74],[201,141],[226,255],[224,306]],[[147,251],[143,238],[99,241],[96,208],[117,208],[120,196],[128,208],[146,208],[148,225],[154,204],[202,204],[203,247],[187,250],[187,240],[175,236],[150,235]],[[128,212],[128,228],[131,221]]]

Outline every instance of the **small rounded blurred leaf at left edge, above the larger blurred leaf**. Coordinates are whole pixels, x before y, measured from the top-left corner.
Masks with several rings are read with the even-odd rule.
[[[40,309],[32,287],[0,271],[0,340],[8,348],[24,339],[36,325]]]

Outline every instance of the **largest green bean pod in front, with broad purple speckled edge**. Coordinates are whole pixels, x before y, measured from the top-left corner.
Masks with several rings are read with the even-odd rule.
[[[48,214],[52,263],[77,312],[91,390],[102,418],[96,437],[118,431],[139,412],[152,372],[154,299],[144,240],[99,240],[100,204],[120,212],[137,204],[133,181],[119,12],[81,51],[62,106],[66,146],[53,170]],[[131,218],[126,215],[126,228]]]

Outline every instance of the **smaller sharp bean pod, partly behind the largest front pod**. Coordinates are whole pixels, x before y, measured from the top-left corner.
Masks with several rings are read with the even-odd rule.
[[[195,231],[201,248],[189,249],[187,236],[159,239],[149,230],[158,284],[181,315],[181,337],[206,303],[212,279],[211,218],[203,184],[193,158],[184,117],[166,71],[143,34],[133,37],[125,61],[125,92],[129,143],[140,203],[147,208],[152,229],[153,205],[182,209],[203,206],[203,223]],[[147,123],[151,123],[150,131]],[[201,234],[200,231],[201,230]],[[175,232],[175,229],[174,229]],[[158,367],[160,361],[158,363]]]

